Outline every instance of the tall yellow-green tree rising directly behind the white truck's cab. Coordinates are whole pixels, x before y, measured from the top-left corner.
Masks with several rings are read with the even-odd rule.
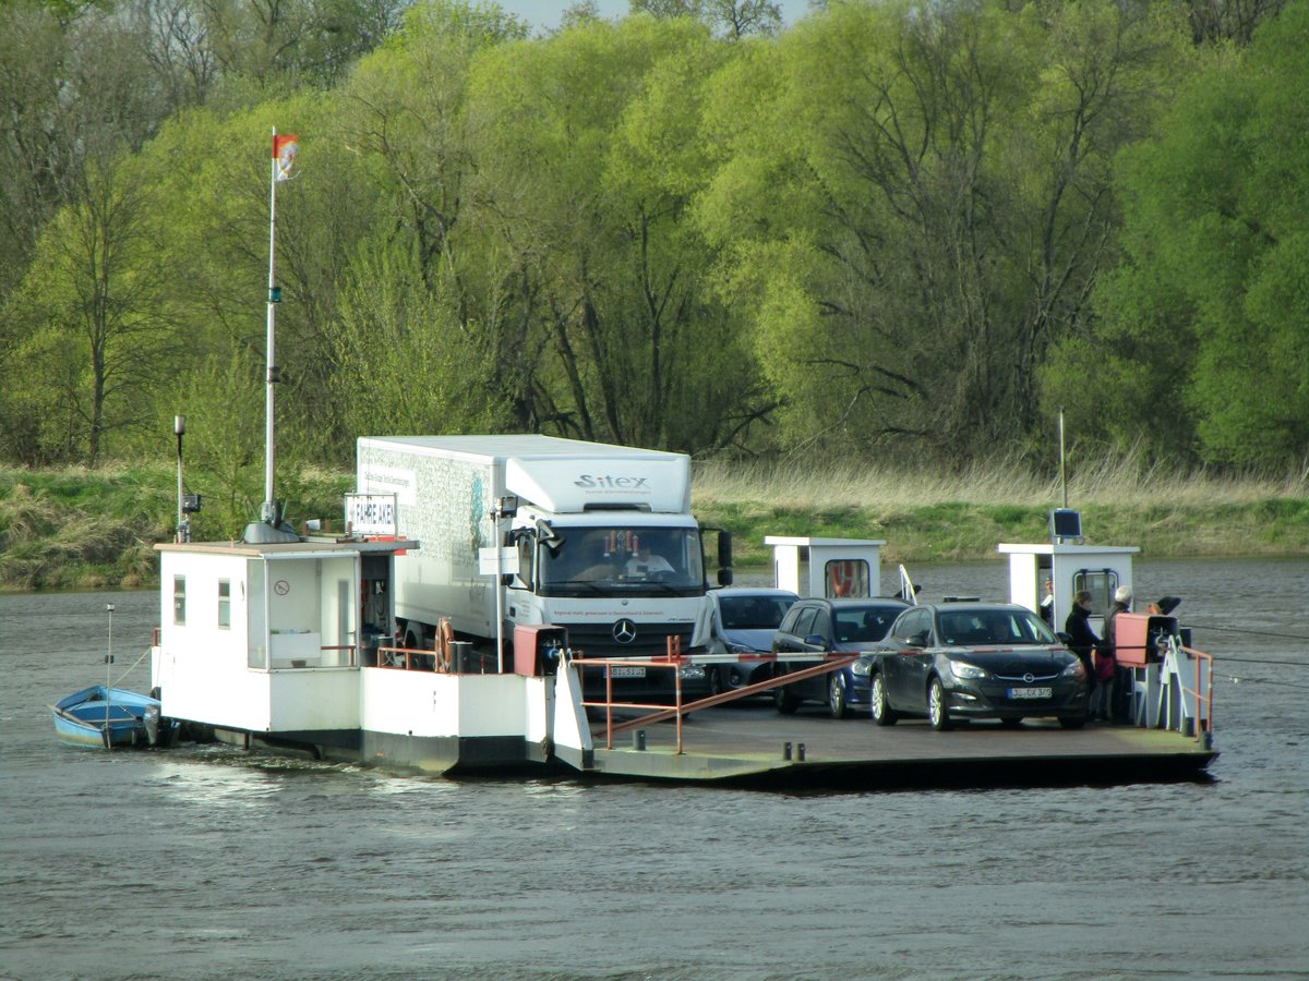
[[[546,354],[505,373],[520,424],[706,449],[750,413],[751,365],[683,220],[706,177],[698,78],[728,55],[691,21],[636,17],[475,65],[478,224],[520,331],[497,349]]]

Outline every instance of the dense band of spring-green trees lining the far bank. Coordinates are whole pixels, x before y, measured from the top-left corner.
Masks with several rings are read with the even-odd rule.
[[[0,4],[0,459],[1309,451],[1309,3]]]

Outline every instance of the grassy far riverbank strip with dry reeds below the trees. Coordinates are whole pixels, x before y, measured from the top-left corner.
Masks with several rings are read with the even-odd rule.
[[[339,518],[350,473],[289,475],[288,518]],[[188,489],[204,488],[192,487]],[[262,488],[260,488],[262,489]],[[1128,466],[1083,468],[1068,488],[1088,540],[1140,545],[1144,557],[1309,553],[1304,476],[1175,476]],[[999,542],[1042,542],[1062,504],[1058,480],[996,466],[957,475],[706,464],[702,523],[733,532],[740,568],[764,568],[764,535],[886,542],[889,562],[995,559]],[[258,504],[206,493],[196,540],[240,535]],[[177,472],[168,466],[0,470],[0,590],[139,589],[157,582],[156,542],[171,540]]]

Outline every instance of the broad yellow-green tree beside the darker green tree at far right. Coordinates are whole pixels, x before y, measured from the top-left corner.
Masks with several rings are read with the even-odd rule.
[[[958,460],[1035,428],[1173,37],[1119,7],[843,4],[723,77],[732,153],[699,216],[792,445]]]

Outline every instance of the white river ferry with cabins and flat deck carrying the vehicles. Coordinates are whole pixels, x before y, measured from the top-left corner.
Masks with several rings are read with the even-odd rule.
[[[194,736],[247,748],[432,774],[546,774],[736,783],[894,787],[1085,783],[1203,777],[1213,748],[1212,659],[1173,616],[1121,613],[1122,719],[1060,731],[975,725],[950,734],[925,725],[749,712],[728,702],[767,692],[776,678],[672,704],[586,697],[583,670],[634,666],[677,679],[689,663],[768,655],[682,653],[677,638],[634,661],[575,650],[567,630],[516,625],[478,651],[453,636],[431,647],[394,636],[397,556],[424,543],[404,528],[342,534],[266,519],[241,540],[156,545],[160,611],[151,650],[162,715]],[[183,536],[179,536],[183,538]],[[774,578],[800,595],[881,594],[884,542],[770,538]],[[1132,585],[1136,548],[1085,544],[1080,534],[1000,544],[1011,602],[1039,610],[1052,582],[1054,623],[1089,589],[1097,610]],[[486,570],[504,590],[503,570]],[[912,586],[902,570],[902,595]],[[821,674],[848,658],[818,657]],[[795,680],[788,675],[787,680]]]

